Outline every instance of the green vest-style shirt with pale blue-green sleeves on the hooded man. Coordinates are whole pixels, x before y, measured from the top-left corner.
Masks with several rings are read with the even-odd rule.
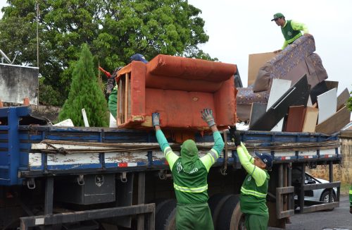
[[[205,156],[197,159],[194,169],[187,173],[182,170],[181,157],[172,152],[163,132],[156,131],[158,143],[170,165],[177,203],[200,204],[208,202],[208,171],[218,159],[225,145],[219,132],[214,132],[213,137],[215,141],[213,148]]]

